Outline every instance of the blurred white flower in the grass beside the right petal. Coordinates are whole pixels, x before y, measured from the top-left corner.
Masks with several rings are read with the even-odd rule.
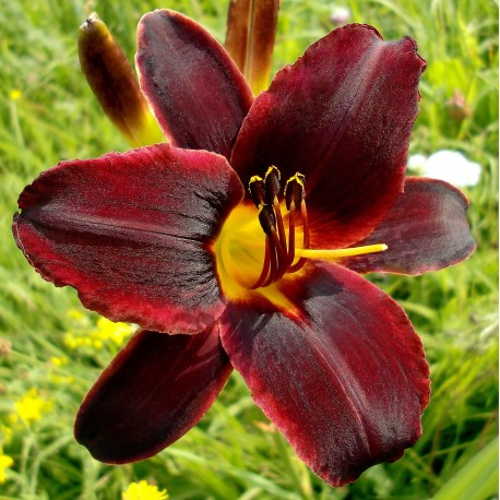
[[[457,151],[442,150],[430,155],[414,155],[408,159],[409,169],[418,169],[425,177],[441,179],[454,186],[476,186],[481,167],[469,162]]]

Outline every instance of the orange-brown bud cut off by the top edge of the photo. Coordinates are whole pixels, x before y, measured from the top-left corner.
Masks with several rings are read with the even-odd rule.
[[[253,94],[269,85],[279,0],[231,0],[227,14],[226,50]]]

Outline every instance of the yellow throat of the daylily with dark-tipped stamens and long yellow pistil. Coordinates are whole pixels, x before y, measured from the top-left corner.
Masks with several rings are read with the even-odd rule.
[[[305,182],[305,176],[297,172],[287,180],[282,195],[281,174],[274,166],[269,167],[263,179],[259,176],[250,179],[249,191],[258,214],[250,204],[236,206],[214,246],[226,296],[238,298],[249,290],[264,291],[299,272],[308,259],[335,261],[386,250],[383,243],[310,249]]]

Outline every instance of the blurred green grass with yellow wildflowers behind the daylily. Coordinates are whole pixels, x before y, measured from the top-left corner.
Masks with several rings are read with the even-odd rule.
[[[59,159],[128,148],[80,72],[76,31],[90,12],[99,13],[132,59],[142,13],[179,10],[223,40],[227,1],[3,2],[0,448],[14,464],[0,485],[0,499],[114,500],[139,479],[168,488],[172,499],[496,498],[498,4],[357,0],[344,5],[353,21],[373,24],[385,38],[413,36],[428,61],[410,152],[453,148],[483,167],[479,184],[466,191],[477,252],[456,267],[420,277],[373,277],[405,307],[431,364],[433,393],[422,438],[398,462],[332,489],[295,456],[235,374],[201,424],[154,459],[105,466],[74,442],[79,403],[118,349],[117,332],[85,311],[73,290],[56,289],[28,266],[10,234],[17,194]],[[324,0],[283,0],[276,69],[333,27],[332,7]],[[454,91],[471,109],[459,121],[448,105]],[[39,418],[20,418],[20,402],[29,394]]]

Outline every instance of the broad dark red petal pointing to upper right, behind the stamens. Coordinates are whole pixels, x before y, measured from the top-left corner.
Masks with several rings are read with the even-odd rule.
[[[425,61],[410,38],[335,29],[282,70],[252,105],[233,151],[246,184],[275,165],[306,175],[312,246],[366,237],[403,190]]]

